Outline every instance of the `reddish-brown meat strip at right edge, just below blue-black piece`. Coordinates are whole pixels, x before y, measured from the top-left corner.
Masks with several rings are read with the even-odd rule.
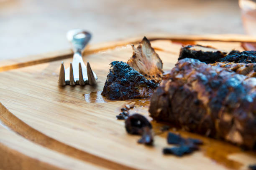
[[[246,75],[248,77],[256,77],[256,63],[215,62],[210,65],[230,69],[238,74]]]

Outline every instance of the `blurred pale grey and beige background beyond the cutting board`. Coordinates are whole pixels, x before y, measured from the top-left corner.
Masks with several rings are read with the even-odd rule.
[[[98,43],[150,32],[245,34],[242,23],[238,0],[0,0],[0,60],[67,49],[73,28]]]

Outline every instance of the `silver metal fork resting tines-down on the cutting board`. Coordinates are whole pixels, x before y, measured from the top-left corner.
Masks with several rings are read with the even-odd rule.
[[[85,66],[82,59],[82,50],[90,41],[91,34],[80,29],[69,30],[67,39],[72,43],[73,62],[70,62],[70,67],[66,70],[61,62],[59,85],[96,85],[97,75],[92,71],[89,62]]]

